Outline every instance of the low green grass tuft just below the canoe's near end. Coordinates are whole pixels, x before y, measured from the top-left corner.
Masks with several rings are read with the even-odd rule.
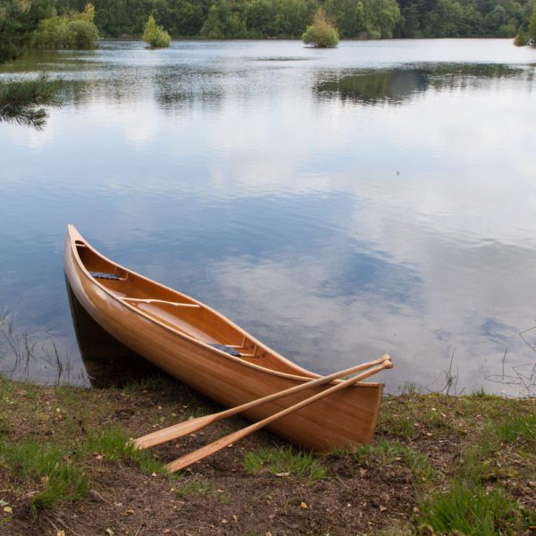
[[[290,446],[262,447],[248,452],[244,466],[251,473],[267,468],[271,473],[289,473],[311,482],[328,478],[328,469],[317,456]]]

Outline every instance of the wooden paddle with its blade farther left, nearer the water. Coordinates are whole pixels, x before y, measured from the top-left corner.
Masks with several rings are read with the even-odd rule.
[[[306,381],[305,383],[297,385],[296,387],[291,387],[289,389],[273,393],[272,395],[268,395],[267,397],[257,398],[256,400],[252,400],[251,402],[247,402],[246,404],[242,404],[241,406],[231,407],[230,409],[221,411],[213,415],[204,415],[202,417],[197,417],[197,419],[191,419],[189,421],[184,421],[183,423],[174,424],[173,426],[169,426],[168,428],[163,428],[162,430],[154,431],[152,433],[148,433],[147,435],[141,436],[137,440],[134,440],[134,446],[138,448],[138,450],[143,450],[144,448],[150,448],[154,447],[155,445],[160,445],[161,443],[165,443],[166,441],[177,440],[194,431],[201,430],[209,424],[215,423],[222,419],[226,419],[231,415],[237,415],[256,406],[261,406],[263,404],[266,404],[267,402],[272,402],[272,400],[288,397],[289,395],[293,395],[294,393],[297,393],[299,391],[310,389],[311,387],[322,385],[324,383],[329,383],[330,381],[337,380],[342,376],[347,376],[348,374],[359,373],[364,369],[370,368],[376,364],[385,363],[386,361],[390,362],[390,356],[388,354],[384,354],[379,359],[376,359],[374,361],[359,364],[344,371],[340,371],[339,373],[332,373],[329,376],[323,376],[322,378],[318,378],[316,380]]]

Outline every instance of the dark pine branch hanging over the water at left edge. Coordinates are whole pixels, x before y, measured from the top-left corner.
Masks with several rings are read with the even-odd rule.
[[[41,129],[46,111],[37,106],[58,106],[59,80],[41,74],[36,80],[0,83],[0,121],[13,121]]]

